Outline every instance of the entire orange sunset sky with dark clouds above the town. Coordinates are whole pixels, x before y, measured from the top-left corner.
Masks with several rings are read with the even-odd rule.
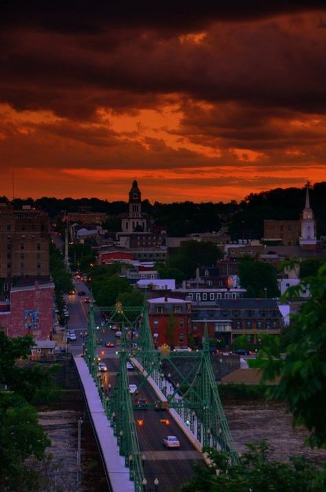
[[[109,201],[326,180],[326,2],[5,4],[0,195],[12,171],[16,197]]]

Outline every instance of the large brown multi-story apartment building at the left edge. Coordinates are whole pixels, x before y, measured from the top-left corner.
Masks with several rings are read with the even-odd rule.
[[[50,275],[49,218],[47,213],[23,206],[14,210],[0,204],[0,278],[2,290],[10,290],[17,277]],[[0,292],[0,294],[3,292]]]

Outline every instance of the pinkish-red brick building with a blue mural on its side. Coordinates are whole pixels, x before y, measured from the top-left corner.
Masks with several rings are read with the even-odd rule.
[[[54,321],[53,302],[52,282],[14,287],[10,302],[0,302],[0,325],[10,337],[32,335],[34,340],[48,339]]]

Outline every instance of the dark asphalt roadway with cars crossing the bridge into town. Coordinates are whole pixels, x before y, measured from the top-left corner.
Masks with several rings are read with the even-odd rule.
[[[76,291],[83,290],[89,296],[89,290],[83,281],[74,280]],[[78,295],[67,296],[69,309],[68,329],[76,332],[77,340],[69,343],[69,351],[73,354],[83,352],[83,342],[87,333],[89,304],[85,303],[85,297]],[[96,323],[100,326],[102,321],[100,314],[96,313]],[[98,339],[113,341],[115,347],[109,348],[99,345],[98,355],[107,365],[107,372],[101,373],[102,381],[110,396],[116,383],[116,374],[119,369],[119,342],[113,331],[98,330]],[[135,370],[129,371],[129,381],[139,387],[138,394],[131,396],[133,403],[137,398],[146,398],[149,403],[154,403],[158,398],[148,383],[142,384],[142,377]],[[147,480],[146,491],[155,491],[154,480],[159,480],[157,491],[177,491],[180,486],[191,478],[193,469],[191,463],[194,460],[202,460],[202,455],[196,451],[184,432],[175,423],[167,410],[135,409],[135,421],[142,420],[142,425],[136,425],[140,452],[144,458],[144,474]],[[169,420],[169,425],[161,423],[161,420]],[[177,436],[180,440],[180,449],[166,449],[163,445],[165,436]],[[204,463],[204,462],[203,462]]]

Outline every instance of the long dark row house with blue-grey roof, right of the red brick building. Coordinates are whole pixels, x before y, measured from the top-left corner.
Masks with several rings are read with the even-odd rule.
[[[279,334],[283,317],[275,299],[219,299],[193,304],[191,334],[200,345],[205,323],[210,338],[230,345],[236,336],[248,335],[248,343],[259,343],[264,333]]]

